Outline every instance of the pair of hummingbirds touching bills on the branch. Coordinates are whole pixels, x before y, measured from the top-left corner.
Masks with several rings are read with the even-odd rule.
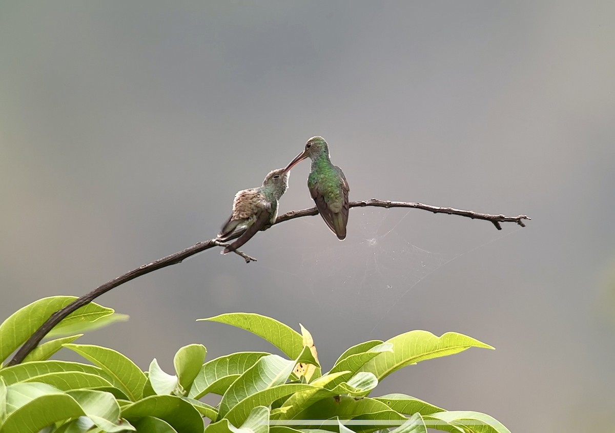
[[[236,232],[244,233],[228,247],[223,254],[232,252],[248,242],[252,236],[276,221],[278,201],[288,188],[289,171],[296,164],[309,158],[312,160],[308,176],[308,188],[322,219],[339,240],[346,237],[348,223],[348,193],[350,188],[342,170],[331,163],[327,141],[312,137],[293,161],[284,169],[269,172],[258,188],[239,191],[232,205],[232,213],[224,223],[218,240],[225,242]]]

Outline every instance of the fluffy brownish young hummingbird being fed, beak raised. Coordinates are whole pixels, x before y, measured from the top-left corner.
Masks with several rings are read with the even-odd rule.
[[[235,195],[232,213],[218,233],[218,240],[226,242],[232,234],[245,232],[222,254],[230,253],[244,245],[260,229],[276,221],[278,200],[288,188],[289,173],[284,169],[272,170],[258,188],[243,189]]]

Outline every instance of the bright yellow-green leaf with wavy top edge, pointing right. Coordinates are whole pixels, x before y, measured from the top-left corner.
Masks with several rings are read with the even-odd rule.
[[[410,331],[386,342],[393,344],[393,352],[381,353],[360,369],[371,371],[379,381],[402,367],[426,359],[452,355],[472,347],[493,349],[488,344],[456,332],[447,332],[438,337],[427,331]]]

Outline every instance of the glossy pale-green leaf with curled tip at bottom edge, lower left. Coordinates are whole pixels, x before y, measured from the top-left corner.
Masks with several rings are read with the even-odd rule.
[[[76,389],[66,394],[73,397],[92,423],[103,431],[109,433],[135,431],[135,427],[127,422],[118,423],[120,408],[109,392]]]

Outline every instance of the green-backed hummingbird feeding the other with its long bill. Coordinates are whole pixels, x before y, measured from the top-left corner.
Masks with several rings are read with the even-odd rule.
[[[308,140],[303,152],[290,161],[284,172],[288,172],[295,164],[306,158],[312,160],[308,176],[309,193],[327,226],[339,240],[344,240],[348,223],[348,192],[350,191],[346,176],[342,169],[331,163],[327,141],[319,136]]]

